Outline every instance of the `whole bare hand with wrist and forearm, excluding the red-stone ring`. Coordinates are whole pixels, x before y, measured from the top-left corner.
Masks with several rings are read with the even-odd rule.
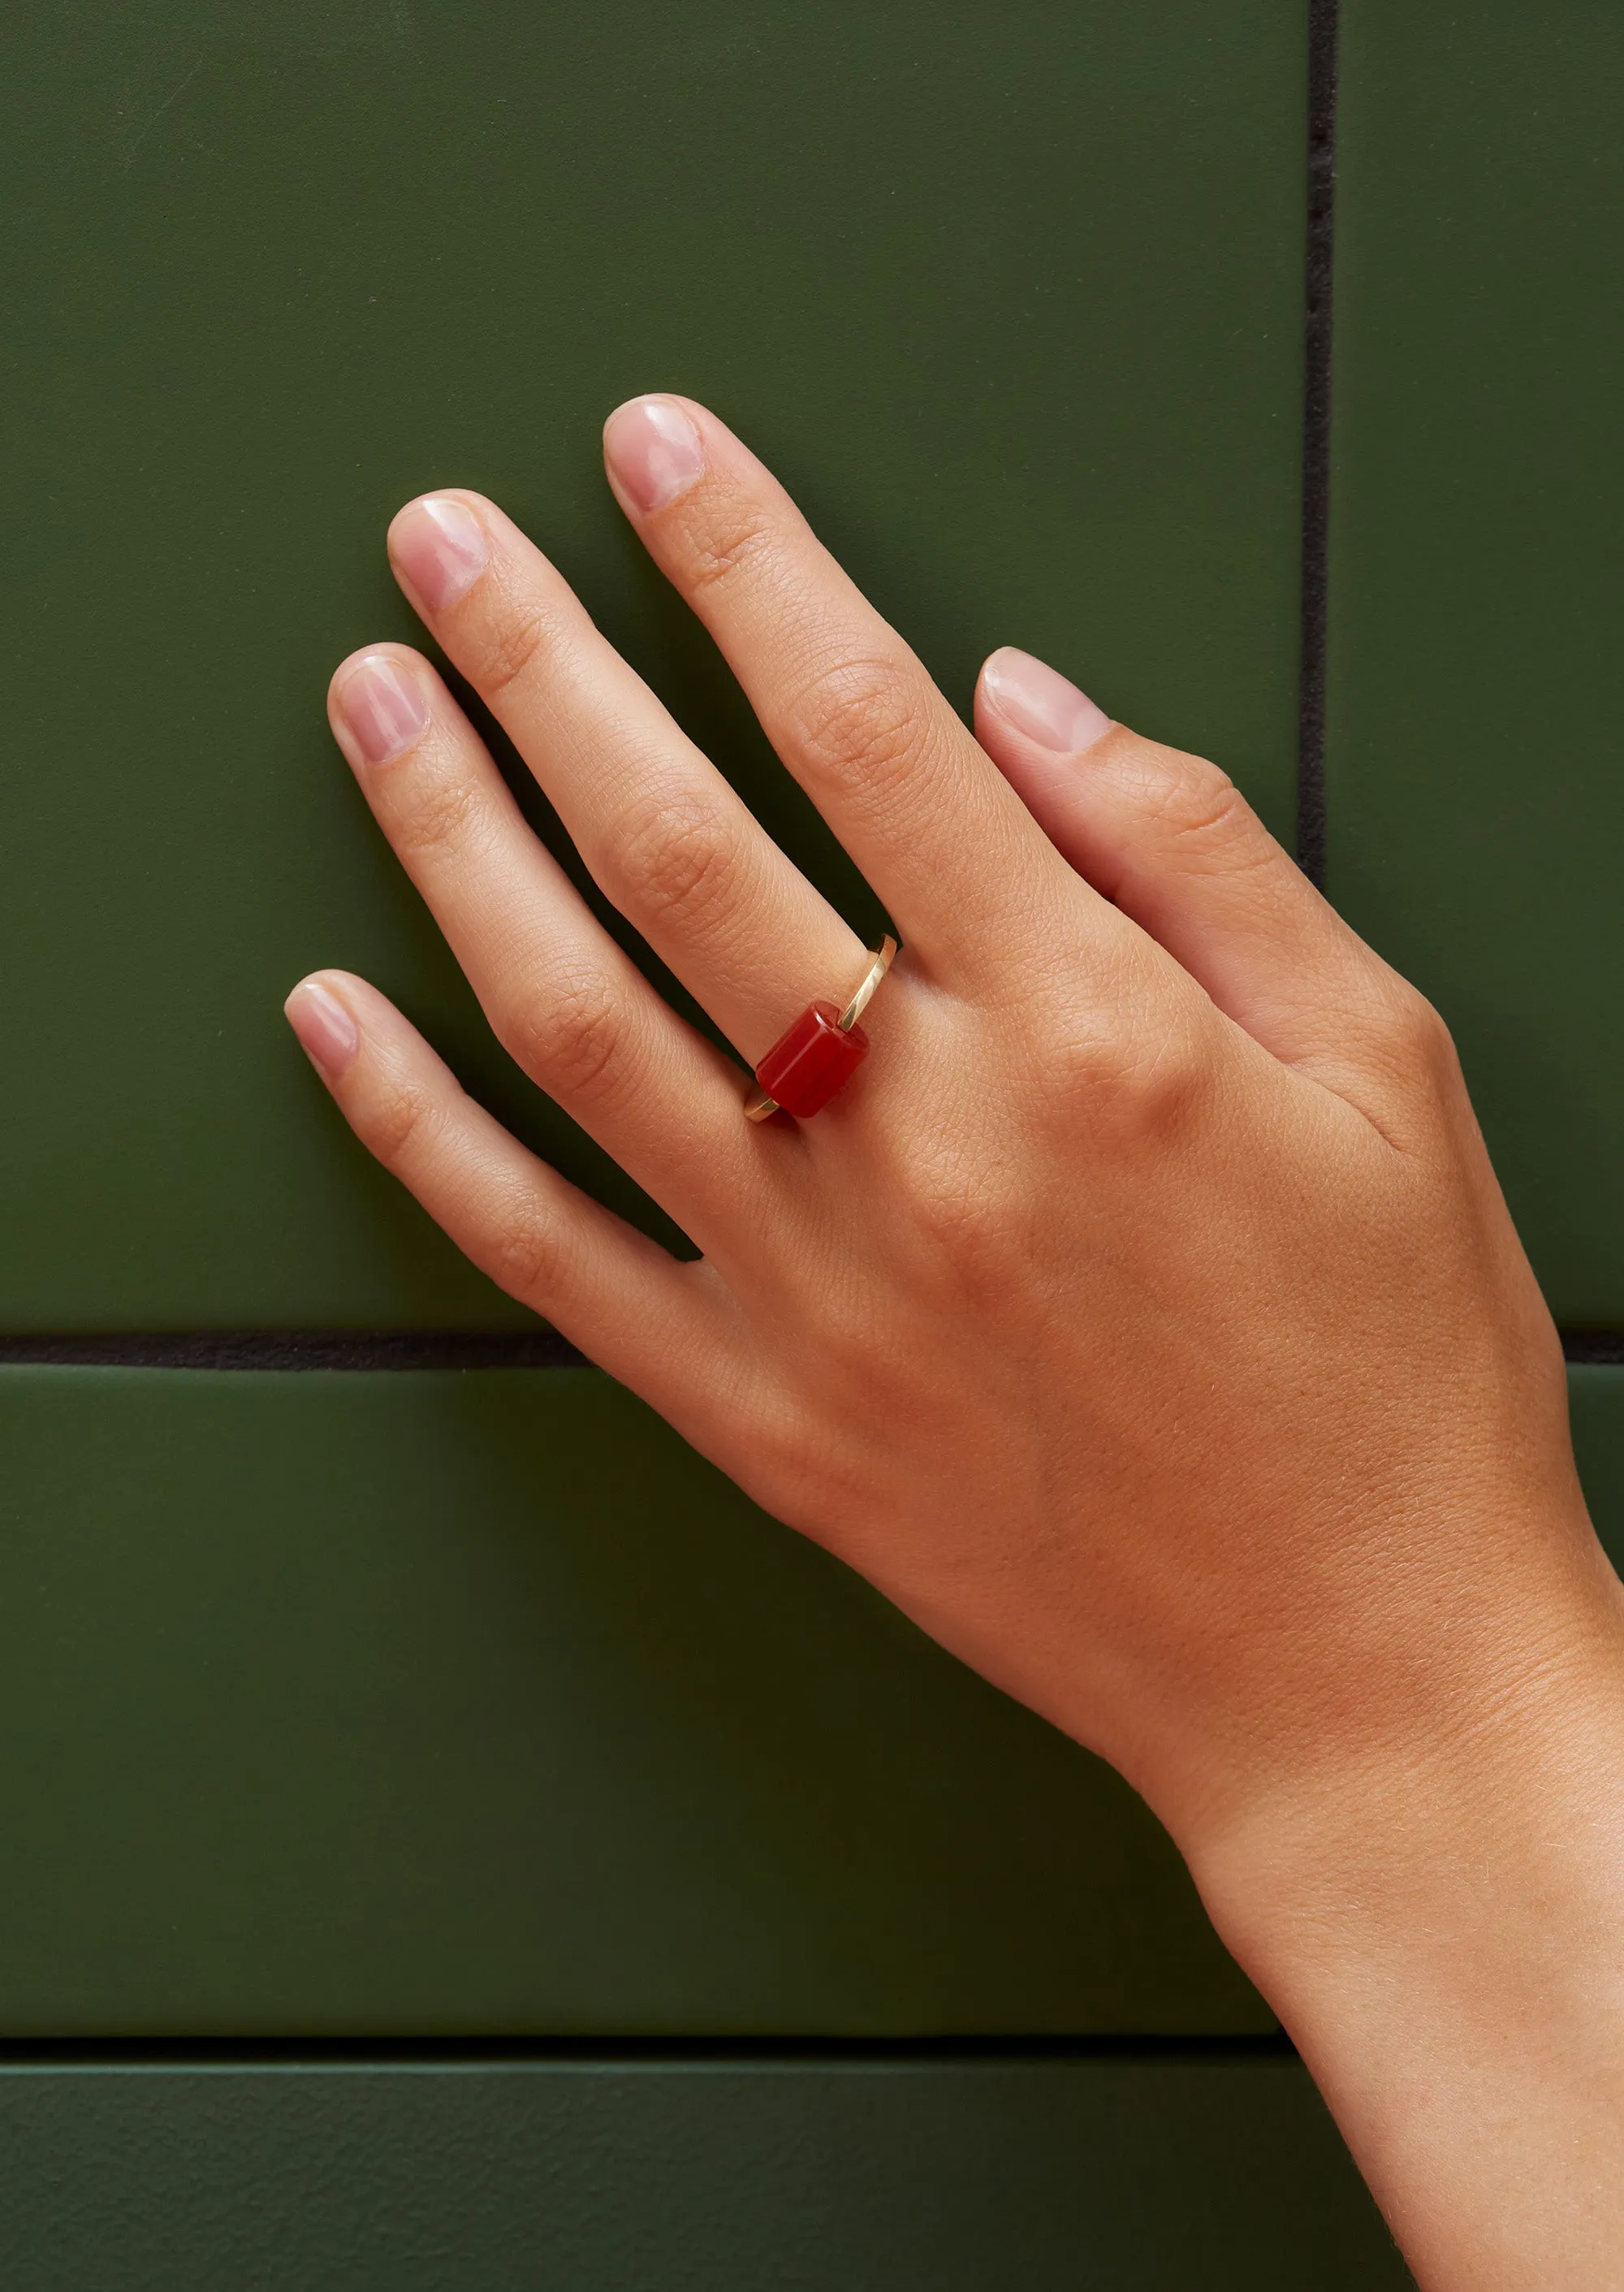
[[[671,1013],[421,656],[332,727],[502,1043],[692,1235],[364,981],[289,1018],[454,1240],[758,1504],[1113,1760],[1425,2287],[1624,2285],[1624,1591],[1436,1013],[1212,763],[994,653],[976,736],[715,415],[609,484],[893,917],[813,1121]],[[396,575],[742,1061],[864,947],[474,493]]]

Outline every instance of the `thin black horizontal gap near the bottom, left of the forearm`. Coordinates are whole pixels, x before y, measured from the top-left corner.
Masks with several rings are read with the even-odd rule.
[[[1079,2038],[55,2038],[0,2040],[5,2070],[447,2067],[557,2063],[1294,2061],[1285,2031]]]

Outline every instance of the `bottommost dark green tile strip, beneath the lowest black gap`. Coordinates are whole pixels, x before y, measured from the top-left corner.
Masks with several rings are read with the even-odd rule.
[[[0,2070],[11,2292],[1386,2292],[1294,2061]]]

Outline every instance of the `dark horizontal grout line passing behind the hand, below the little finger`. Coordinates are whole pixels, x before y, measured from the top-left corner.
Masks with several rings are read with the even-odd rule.
[[[1562,1329],[1567,1361],[1624,1366],[1624,1329]],[[589,1368],[557,1329],[115,1329],[0,1336],[0,1368]]]

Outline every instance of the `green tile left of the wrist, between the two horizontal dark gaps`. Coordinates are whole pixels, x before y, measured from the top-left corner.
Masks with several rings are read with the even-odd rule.
[[[1258,2031],[1104,1765],[596,1371],[0,1371],[0,2033]]]

